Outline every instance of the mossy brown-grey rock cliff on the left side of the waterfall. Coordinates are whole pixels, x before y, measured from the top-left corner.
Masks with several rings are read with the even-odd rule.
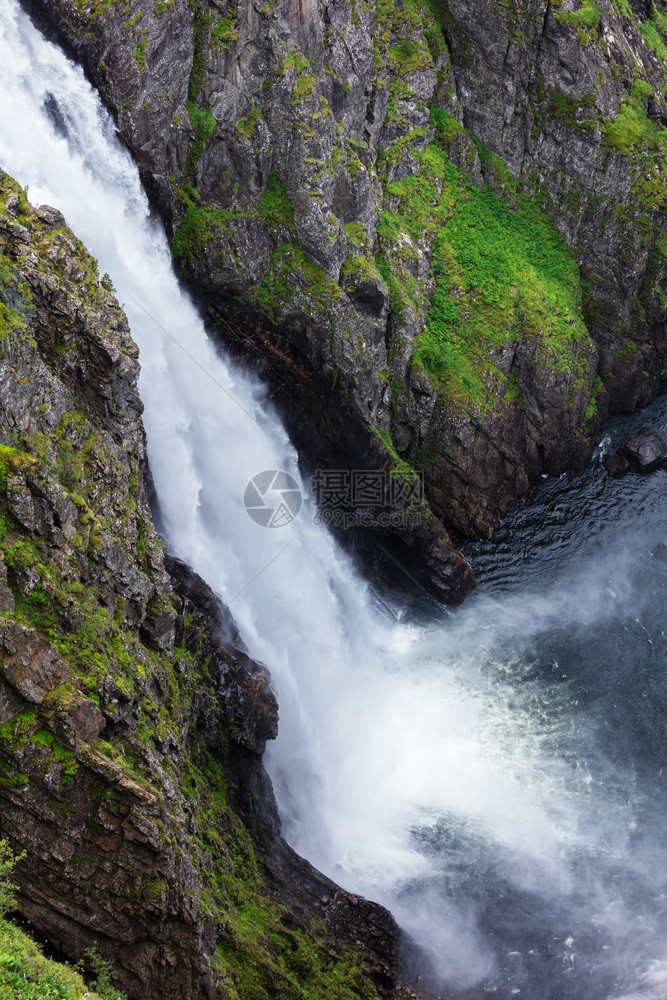
[[[389,996],[397,930],[281,840],[266,670],[146,501],[137,351],[0,172],[0,838],[18,910],[130,998]]]

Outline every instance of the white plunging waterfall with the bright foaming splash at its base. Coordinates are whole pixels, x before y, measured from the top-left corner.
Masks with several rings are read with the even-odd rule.
[[[592,776],[591,727],[570,712],[566,686],[535,679],[530,656],[559,623],[612,621],[632,599],[621,584],[610,598],[606,580],[629,577],[633,540],[613,557],[598,552],[594,571],[573,564],[567,587],[550,583],[539,597],[515,588],[419,621],[381,611],[314,526],[307,496],[292,524],[255,524],[243,507],[248,481],[266,469],[299,478],[285,431],[179,289],[97,96],[14,0],[0,0],[0,87],[0,167],[31,201],[64,213],[125,304],[169,548],[231,605],[271,670],[281,722],[267,762],[288,838],[387,904],[453,986],[500,975],[477,890],[464,884],[476,856],[493,856],[496,883],[547,907],[567,909],[583,880],[600,947],[614,946],[622,916],[589,862],[624,857],[631,804]],[[574,963],[569,928],[559,933],[559,955]]]

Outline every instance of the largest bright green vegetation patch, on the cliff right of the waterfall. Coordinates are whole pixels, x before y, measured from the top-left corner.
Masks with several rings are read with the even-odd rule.
[[[437,135],[441,117],[433,117]],[[414,359],[452,401],[488,409],[499,393],[512,399],[493,358],[523,336],[575,382],[587,377],[591,341],[576,261],[518,188],[512,209],[488,186],[468,182],[436,141],[419,173],[389,184],[387,196],[395,207],[383,218],[386,235],[393,227],[398,238],[404,231],[414,244],[432,242],[435,289]]]

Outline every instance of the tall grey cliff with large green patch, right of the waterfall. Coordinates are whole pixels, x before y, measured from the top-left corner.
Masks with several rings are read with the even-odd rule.
[[[32,6],[311,465],[424,476],[422,527],[393,535],[443,596],[473,582],[443,525],[491,536],[656,393],[662,0]]]

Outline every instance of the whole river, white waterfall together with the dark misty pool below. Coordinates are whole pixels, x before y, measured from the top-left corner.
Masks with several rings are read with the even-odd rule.
[[[322,528],[262,528],[263,470],[299,478],[263,388],[208,340],[97,96],[0,0],[0,166],[109,272],[141,351],[169,548],[270,667],[286,836],[389,906],[424,985],[605,1000],[667,957],[667,473],[544,481],[473,546],[451,614],[380,601]],[[607,428],[667,433],[667,398]],[[325,1000],[325,998],[323,998]]]

